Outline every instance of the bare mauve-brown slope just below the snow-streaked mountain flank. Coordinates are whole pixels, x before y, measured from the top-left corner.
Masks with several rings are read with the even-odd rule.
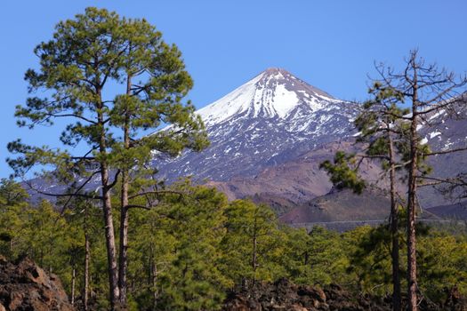
[[[253,178],[238,177],[228,181],[210,181],[207,184],[219,188],[229,199],[251,197],[255,202],[268,203],[282,215],[286,211],[307,203],[310,199],[326,195],[332,184],[326,171],[319,169],[319,163],[331,159],[337,150],[357,151],[353,140],[335,141],[314,148],[297,158],[270,166]],[[377,164],[365,163],[365,179],[382,186]],[[323,219],[317,219],[321,221]]]

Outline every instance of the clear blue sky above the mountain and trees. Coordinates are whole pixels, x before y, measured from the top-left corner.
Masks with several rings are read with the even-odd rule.
[[[101,0],[4,1],[0,11],[0,177],[11,171],[7,142],[56,145],[60,130],[18,129],[14,106],[27,98],[23,75],[36,67],[36,44],[59,20],[86,6],[146,18],[179,46],[195,81],[189,93],[201,108],[269,67],[337,98],[366,98],[374,60],[398,66],[418,47],[426,60],[467,70],[465,0]]]

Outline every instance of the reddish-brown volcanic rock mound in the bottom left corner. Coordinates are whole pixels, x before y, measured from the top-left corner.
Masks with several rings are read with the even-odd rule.
[[[31,259],[17,265],[0,256],[0,311],[72,311],[60,280],[46,275]]]

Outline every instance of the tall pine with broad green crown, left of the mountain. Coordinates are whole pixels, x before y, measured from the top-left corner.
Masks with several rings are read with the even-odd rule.
[[[66,148],[33,147],[16,140],[9,144],[9,150],[17,156],[9,163],[17,176],[24,176],[34,165],[52,165],[49,174],[54,182],[73,186],[56,196],[101,200],[110,302],[112,308],[119,301],[125,305],[125,205],[131,171],[148,163],[151,150],[173,155],[185,147],[206,145],[203,124],[194,116],[193,106],[181,103],[191,79],[176,46],[165,44],[160,32],[146,20],[126,20],[116,12],[96,8],[60,22],[52,40],[37,45],[35,53],[40,68],[26,73],[33,97],[17,107],[18,124],[32,129],[65,118],[69,124],[60,140]],[[142,135],[161,124],[173,127]],[[78,144],[89,149],[74,155]],[[120,284],[111,203],[111,190],[119,175],[123,205]],[[76,181],[76,176],[84,181]],[[83,193],[95,176],[100,177],[100,192]]]

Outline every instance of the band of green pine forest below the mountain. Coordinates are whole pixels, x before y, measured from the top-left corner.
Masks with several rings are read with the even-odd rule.
[[[183,195],[166,195],[150,211],[130,210],[131,310],[216,310],[234,286],[281,277],[298,284],[340,283],[356,294],[385,296],[392,291],[387,224],[342,234],[314,227],[307,233],[280,225],[265,205],[229,203],[213,188],[187,181],[173,190]],[[116,198],[116,213],[119,208]],[[59,275],[78,309],[85,309],[85,301],[88,310],[109,308],[99,206],[82,202],[60,215],[46,201],[31,205],[18,184],[4,179],[0,210],[0,253],[9,259],[29,256]],[[442,304],[453,286],[466,294],[465,227],[420,225],[417,235],[424,297]],[[401,250],[405,243],[402,238]],[[405,259],[400,251],[400,262]],[[403,265],[400,273],[407,273]],[[405,278],[401,280],[406,287]]]

